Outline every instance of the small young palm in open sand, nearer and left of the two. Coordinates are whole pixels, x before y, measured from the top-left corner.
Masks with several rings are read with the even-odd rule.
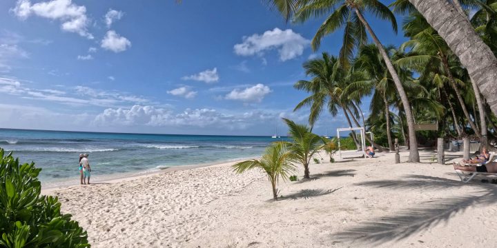
[[[266,172],[273,189],[273,199],[277,200],[277,182],[281,178],[287,180],[291,172],[295,172],[296,167],[289,160],[290,154],[286,149],[286,144],[275,142],[266,148],[260,160],[252,159],[233,165],[233,170],[241,174],[249,169],[261,169]]]

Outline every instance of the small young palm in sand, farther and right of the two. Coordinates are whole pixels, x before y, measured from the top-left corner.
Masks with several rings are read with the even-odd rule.
[[[289,126],[289,133],[293,139],[293,142],[286,143],[291,154],[291,160],[302,164],[304,166],[304,178],[310,178],[309,163],[311,163],[313,155],[319,149],[324,148],[327,141],[318,134],[313,134],[311,128],[306,125],[294,123],[287,118],[283,118],[283,121]]]

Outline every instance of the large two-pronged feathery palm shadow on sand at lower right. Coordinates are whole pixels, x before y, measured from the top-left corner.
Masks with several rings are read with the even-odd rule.
[[[457,180],[432,176],[407,176],[406,180],[378,180],[356,185],[389,189],[459,189],[467,187]],[[344,231],[332,234],[331,238],[340,241],[367,242],[380,245],[391,240],[402,240],[413,234],[446,223],[451,216],[466,211],[471,206],[485,206],[497,203],[497,187],[494,185],[472,185],[479,191],[473,196],[460,196],[430,200],[416,207],[398,211],[391,216],[382,216],[360,223]]]

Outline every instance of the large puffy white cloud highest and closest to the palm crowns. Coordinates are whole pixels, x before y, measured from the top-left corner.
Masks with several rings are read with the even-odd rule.
[[[311,41],[291,29],[280,30],[275,28],[264,32],[262,35],[253,34],[250,37],[243,37],[243,42],[236,44],[233,49],[235,54],[241,56],[253,56],[255,54],[262,56],[266,51],[277,49],[280,54],[280,61],[287,61],[302,55],[304,48],[310,43]]]

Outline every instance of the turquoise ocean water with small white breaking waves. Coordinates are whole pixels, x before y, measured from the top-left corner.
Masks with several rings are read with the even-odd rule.
[[[43,168],[42,183],[77,178],[79,154],[88,153],[92,176],[210,164],[260,156],[269,136],[114,134],[0,129],[0,147],[22,163]]]

